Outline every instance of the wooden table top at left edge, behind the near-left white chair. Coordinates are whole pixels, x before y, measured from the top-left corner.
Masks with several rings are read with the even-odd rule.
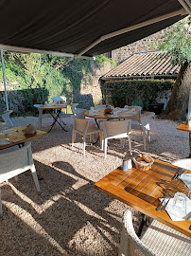
[[[38,137],[47,135],[46,132],[37,130],[34,135],[26,135],[23,130],[25,126],[11,127],[6,131],[0,132],[0,150],[9,148],[11,146],[19,145],[20,147],[25,144],[26,141],[33,140]],[[11,133],[9,133],[11,132]],[[4,143],[1,144],[1,141]]]

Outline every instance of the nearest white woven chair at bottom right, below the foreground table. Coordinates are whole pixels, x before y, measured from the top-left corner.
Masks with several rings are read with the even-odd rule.
[[[125,211],[118,256],[172,255],[191,255],[190,238],[156,220],[138,238],[133,229],[131,211]]]

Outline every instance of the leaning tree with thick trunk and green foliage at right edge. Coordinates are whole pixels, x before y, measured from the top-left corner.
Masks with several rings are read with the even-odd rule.
[[[170,100],[161,118],[185,119],[190,89],[189,75],[191,62],[190,17],[186,17],[169,27],[152,48],[167,51],[173,65],[180,64],[181,69],[174,83]],[[185,75],[187,76],[185,79]],[[183,79],[184,78],[184,79]]]

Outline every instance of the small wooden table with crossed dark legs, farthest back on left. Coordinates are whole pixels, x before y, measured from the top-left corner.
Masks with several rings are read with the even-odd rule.
[[[59,125],[61,126],[61,129],[64,132],[67,132],[64,127],[61,125],[61,122],[59,122],[59,118],[61,115],[61,109],[67,109],[67,104],[55,104],[55,103],[50,103],[47,105],[43,105],[41,108],[39,108],[40,110],[47,110],[49,112],[49,114],[52,116],[52,118],[54,119],[54,121],[51,124],[51,127],[48,131],[48,133],[52,130],[53,126],[55,125],[55,123],[59,123]],[[65,124],[62,121],[63,124]]]

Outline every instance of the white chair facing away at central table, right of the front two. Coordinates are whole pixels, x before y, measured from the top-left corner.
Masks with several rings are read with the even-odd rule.
[[[104,137],[102,141],[102,146],[101,148],[103,149],[103,142],[104,142],[104,155],[105,158],[107,156],[107,148],[108,148],[108,139],[112,138],[124,138],[128,137],[129,138],[129,147],[130,147],[130,155],[131,153],[131,120],[126,119],[126,120],[111,120],[111,121],[102,121],[103,125],[103,132],[104,132]]]

